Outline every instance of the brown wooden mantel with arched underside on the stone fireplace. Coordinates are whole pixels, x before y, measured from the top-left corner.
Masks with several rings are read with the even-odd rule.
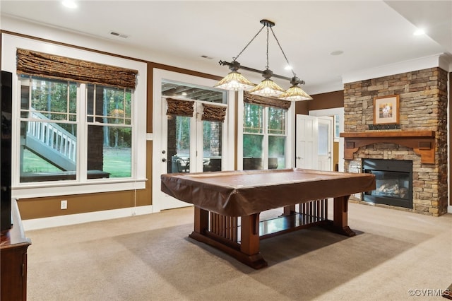
[[[412,148],[421,156],[421,163],[435,163],[434,131],[360,131],[340,133],[345,138],[344,158],[353,159],[353,153],[362,146],[374,143],[395,143]]]

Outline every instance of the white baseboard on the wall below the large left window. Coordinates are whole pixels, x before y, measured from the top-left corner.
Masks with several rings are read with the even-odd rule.
[[[111,220],[113,218],[126,218],[129,216],[141,216],[153,213],[153,206],[138,206],[131,208],[121,208],[106,211],[95,211],[88,213],[69,214],[66,216],[52,216],[51,218],[35,218],[23,220],[23,228],[27,230],[37,230],[43,228],[53,228],[64,225],[76,225],[80,223],[95,222],[97,220]]]

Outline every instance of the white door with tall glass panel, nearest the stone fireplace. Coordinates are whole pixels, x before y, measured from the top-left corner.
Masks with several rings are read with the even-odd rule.
[[[318,117],[319,170],[333,170],[333,117]]]

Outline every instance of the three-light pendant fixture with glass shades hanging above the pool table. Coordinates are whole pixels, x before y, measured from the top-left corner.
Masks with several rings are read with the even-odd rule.
[[[268,66],[268,36],[270,33],[270,30],[273,34],[273,37],[275,37],[276,42],[278,43],[278,47],[280,47],[281,52],[283,52],[283,56],[287,62],[287,65],[290,66],[289,61],[287,60],[287,57],[283,51],[283,48],[280,45],[280,42],[278,41],[278,38],[276,37],[275,33],[273,32],[273,26],[275,26],[275,23],[269,20],[261,20],[260,23],[262,24],[262,28],[254,35],[254,37],[251,39],[251,41],[246,44],[244,49],[237,55],[237,57],[234,57],[231,63],[228,63],[227,61],[220,61],[220,65],[228,65],[230,66],[231,72],[225,76],[225,78],[222,78],[221,81],[219,81],[215,87],[217,88],[223,88],[227,90],[249,90],[249,93],[254,95],[261,95],[266,97],[276,97],[281,98],[283,100],[311,100],[312,98],[302,90],[302,88],[299,87],[299,84],[304,84],[304,81],[300,81],[295,72],[292,70],[293,77],[287,78],[285,76],[278,76],[276,74],[273,74],[273,71],[270,70],[270,67]],[[263,28],[267,28],[267,51],[266,51],[266,69],[264,71],[259,71],[256,69],[251,69],[249,67],[241,66],[237,59],[239,56],[244,52],[244,50],[251,44],[251,42],[254,41],[254,39],[261,33]],[[263,81],[259,83],[258,85],[255,85],[254,83],[251,83],[251,81],[247,80],[244,76],[242,76],[241,73],[239,73],[237,70],[239,69],[245,69],[249,71],[254,71],[258,73],[262,73]],[[274,81],[272,81],[271,77],[278,77],[278,78],[284,78],[287,80],[290,80],[290,83],[292,86],[286,91],[283,88],[281,88],[278,84],[276,84]]]

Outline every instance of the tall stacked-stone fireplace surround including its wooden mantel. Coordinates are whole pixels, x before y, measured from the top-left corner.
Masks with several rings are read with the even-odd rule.
[[[447,212],[447,93],[447,72],[439,67],[345,83],[344,171],[362,172],[363,158],[412,161],[413,208],[376,206]],[[388,95],[400,97],[400,123],[375,130],[374,98]],[[350,201],[367,203],[362,194]]]

